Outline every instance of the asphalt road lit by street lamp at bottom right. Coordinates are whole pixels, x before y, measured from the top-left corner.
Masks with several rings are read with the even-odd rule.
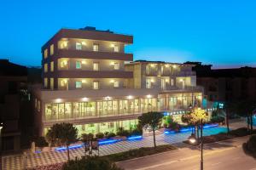
[[[207,144],[204,152],[205,170],[256,170],[256,160],[243,153],[241,144],[247,138],[232,139],[218,144]],[[154,156],[119,162],[125,170],[199,170],[200,150],[183,148]]]

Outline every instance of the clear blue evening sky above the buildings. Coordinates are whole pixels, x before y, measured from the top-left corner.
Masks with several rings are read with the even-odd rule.
[[[0,0],[0,58],[40,65],[62,27],[132,34],[134,59],[256,65],[256,1]]]

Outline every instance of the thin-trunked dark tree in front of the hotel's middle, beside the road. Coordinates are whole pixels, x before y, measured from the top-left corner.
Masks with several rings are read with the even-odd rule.
[[[154,137],[154,148],[156,147],[155,144],[155,130],[156,128],[160,125],[160,122],[162,121],[163,114],[161,112],[148,112],[148,113],[143,113],[142,116],[138,117],[139,123],[145,127],[149,126],[153,130],[153,137]]]

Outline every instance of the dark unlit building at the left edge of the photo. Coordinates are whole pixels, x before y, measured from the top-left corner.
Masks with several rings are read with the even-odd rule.
[[[20,100],[26,94],[26,67],[0,59],[0,122],[3,150],[20,150]]]

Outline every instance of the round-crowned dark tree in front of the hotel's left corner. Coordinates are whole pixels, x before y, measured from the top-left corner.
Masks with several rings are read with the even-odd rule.
[[[50,145],[64,145],[67,147],[67,160],[69,157],[68,146],[78,139],[78,129],[73,127],[71,123],[56,123],[50,127],[48,133],[46,134],[46,139]]]

